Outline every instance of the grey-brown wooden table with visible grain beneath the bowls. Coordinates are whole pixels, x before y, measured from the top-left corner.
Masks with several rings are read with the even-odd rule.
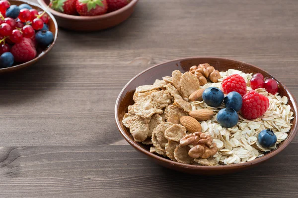
[[[129,146],[114,121],[123,86],[186,56],[258,65],[298,98],[297,0],[140,0],[121,25],[60,29],[35,66],[0,78],[0,198],[294,198],[298,139],[234,175],[193,176]]]

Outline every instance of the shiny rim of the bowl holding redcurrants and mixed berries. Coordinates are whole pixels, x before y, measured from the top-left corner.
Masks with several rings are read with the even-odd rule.
[[[36,7],[38,7],[38,8],[40,8],[40,9],[42,9],[42,10],[45,11],[45,9],[41,5],[39,5],[37,3],[33,3],[31,1],[28,1],[28,0],[9,0],[9,1],[11,1],[11,2],[13,2],[13,1],[15,1],[15,2],[16,1],[19,1],[19,2],[23,2],[23,3],[27,3],[29,5],[34,5],[34,6],[36,6]],[[42,51],[41,54],[39,54],[38,56],[36,56],[34,59],[32,59],[32,60],[30,60],[28,62],[24,62],[22,64],[14,65],[12,67],[0,68],[0,73],[14,71],[14,70],[20,69],[22,67],[29,66],[29,65],[31,65],[30,63],[33,64],[34,62],[36,62],[37,60],[39,60],[40,58],[42,58],[44,55],[46,55],[54,47],[54,45],[56,43],[56,40],[57,40],[57,37],[58,37],[58,24],[57,24],[57,21],[56,21],[55,17],[49,11],[46,10],[46,13],[51,17],[51,19],[54,22],[54,26],[55,26],[55,35],[54,35],[54,41],[53,41],[53,43],[45,51]]]

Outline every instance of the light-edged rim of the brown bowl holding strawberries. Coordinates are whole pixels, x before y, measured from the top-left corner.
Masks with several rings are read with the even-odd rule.
[[[48,5],[46,4],[46,2],[44,0],[37,0],[39,2],[39,4],[41,4],[42,7],[48,7]],[[64,14],[61,12],[58,12],[52,8],[47,8],[53,15],[58,16],[58,17],[62,17],[62,18],[67,18],[67,19],[72,19],[72,20],[98,20],[98,19],[107,19],[109,17],[112,17],[114,15],[117,15],[121,12],[124,12],[125,10],[133,7],[139,0],[132,0],[131,2],[129,2],[127,5],[125,5],[124,7],[115,10],[113,12],[109,12],[106,14],[102,14],[102,15],[98,15],[98,16],[75,16],[75,15],[70,15],[70,14]]]

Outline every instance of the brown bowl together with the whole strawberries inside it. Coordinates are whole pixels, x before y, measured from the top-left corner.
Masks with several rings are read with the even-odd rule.
[[[55,16],[60,27],[96,31],[114,27],[134,11],[138,0],[38,0]]]

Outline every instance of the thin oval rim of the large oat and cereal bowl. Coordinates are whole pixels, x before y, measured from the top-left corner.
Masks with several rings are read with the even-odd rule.
[[[164,158],[164,157],[161,157],[157,154],[154,154],[154,153],[151,153],[149,152],[148,150],[146,150],[145,148],[142,148],[140,147],[135,141],[131,140],[130,137],[122,130],[122,127],[121,127],[121,121],[118,117],[118,106],[120,105],[120,102],[121,102],[121,97],[125,91],[125,89],[129,86],[129,84],[135,80],[137,77],[139,77],[140,75],[146,73],[147,71],[155,68],[155,67],[159,67],[163,64],[168,64],[168,63],[171,63],[171,62],[176,62],[176,61],[185,61],[185,60],[189,60],[189,59],[195,59],[195,58],[211,58],[211,59],[218,59],[218,60],[230,60],[230,61],[234,61],[234,62],[238,62],[238,63],[245,63],[249,66],[252,66],[252,67],[256,67],[257,69],[261,70],[262,72],[264,73],[268,73],[266,72],[265,70],[259,68],[258,66],[255,66],[255,65],[252,65],[252,64],[249,64],[249,63],[246,63],[246,62],[243,62],[243,61],[237,61],[237,60],[234,60],[234,59],[231,59],[231,58],[223,58],[223,57],[211,57],[211,56],[192,56],[192,57],[184,57],[184,58],[178,58],[178,59],[174,59],[174,60],[170,60],[170,61],[167,61],[167,62],[163,62],[163,63],[160,63],[160,64],[157,64],[157,65],[154,65],[152,67],[149,67],[148,69],[142,71],[141,73],[137,74],[135,77],[133,77],[125,86],[124,88],[121,90],[117,100],[116,100],[116,103],[115,103],[115,121],[116,121],[116,124],[117,124],[117,127],[121,133],[121,135],[124,137],[124,139],[131,145],[133,146],[134,148],[136,148],[137,150],[143,152],[144,154],[148,155],[149,157],[151,158],[154,158],[154,159],[157,159],[163,163],[168,163],[168,164],[171,164],[173,166],[177,166],[177,167],[181,167],[181,168],[185,168],[185,169],[195,169],[195,170],[213,170],[213,171],[216,171],[216,170],[232,170],[232,169],[237,169],[237,168],[240,168],[240,167],[244,167],[244,166],[250,166],[250,165],[253,165],[253,164],[259,164],[263,161],[266,161],[268,160],[269,158],[273,157],[274,155],[278,154],[279,152],[281,152],[283,149],[285,149],[292,141],[293,139],[296,137],[296,134],[297,134],[297,131],[298,131],[298,115],[297,115],[297,101],[295,99],[295,97],[293,96],[293,94],[289,91],[289,89],[283,84],[281,83],[279,80],[277,80],[275,77],[273,77],[274,79],[276,79],[278,82],[279,82],[279,85],[280,86],[283,86],[285,88],[285,90],[288,92],[289,96],[290,96],[290,99],[292,100],[293,102],[293,108],[294,108],[294,111],[295,111],[295,123],[293,123],[294,125],[294,129],[292,129],[292,133],[288,136],[288,138],[286,139],[287,142],[284,142],[284,144],[282,144],[279,148],[271,151],[270,153],[268,154],[265,154],[264,156],[262,157],[258,157],[252,161],[248,161],[248,162],[243,162],[243,163],[238,163],[238,164],[231,164],[231,165],[219,165],[219,166],[200,166],[200,165],[192,165],[192,164],[183,164],[183,163],[180,163],[180,162],[176,162],[176,161],[172,161],[170,159],[167,159],[167,158]],[[269,74],[269,73],[268,73]]]

